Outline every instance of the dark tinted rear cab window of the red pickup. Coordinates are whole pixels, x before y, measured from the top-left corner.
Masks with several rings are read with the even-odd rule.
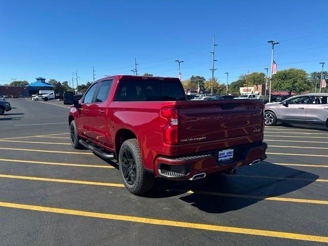
[[[179,81],[120,80],[114,101],[181,101],[186,100]]]

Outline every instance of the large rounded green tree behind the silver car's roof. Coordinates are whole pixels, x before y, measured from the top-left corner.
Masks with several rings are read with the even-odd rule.
[[[311,89],[308,74],[302,69],[286,69],[272,76],[272,90],[300,94]]]

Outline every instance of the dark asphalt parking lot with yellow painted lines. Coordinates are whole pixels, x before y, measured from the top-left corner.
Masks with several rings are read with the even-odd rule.
[[[144,196],[115,162],[70,145],[65,107],[9,99],[0,116],[1,245],[323,245],[328,131],[265,129],[268,159],[217,180],[157,179]]]

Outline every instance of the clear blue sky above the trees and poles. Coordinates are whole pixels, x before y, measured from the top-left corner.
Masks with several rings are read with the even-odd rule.
[[[0,84],[11,78],[70,80],[79,84],[113,74],[182,79],[215,76],[224,83],[248,71],[328,68],[328,1],[0,1]],[[327,69],[325,69],[327,70]]]

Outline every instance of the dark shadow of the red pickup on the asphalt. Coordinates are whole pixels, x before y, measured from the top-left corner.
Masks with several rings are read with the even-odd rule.
[[[251,175],[257,177],[250,177]],[[301,195],[286,194],[310,185],[318,177],[309,172],[263,161],[252,167],[237,169],[237,175],[219,173],[210,178],[194,181],[171,181],[158,178],[154,189],[143,196],[148,198],[177,196],[201,211],[226,213],[251,206],[266,197],[306,199]]]

